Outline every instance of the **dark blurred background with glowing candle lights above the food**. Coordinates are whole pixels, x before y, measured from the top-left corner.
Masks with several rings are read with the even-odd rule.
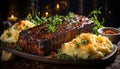
[[[27,15],[51,16],[66,15],[69,11],[88,16],[94,9],[102,7],[105,26],[120,27],[118,0],[3,0],[0,2],[0,31],[4,30],[3,22],[11,14],[18,19]]]

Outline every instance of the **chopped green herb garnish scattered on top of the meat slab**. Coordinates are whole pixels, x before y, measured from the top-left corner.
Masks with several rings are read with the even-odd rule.
[[[36,26],[42,24],[42,23],[47,23],[46,28],[48,30],[48,32],[55,32],[56,29],[55,27],[59,24],[62,24],[63,21],[63,17],[64,20],[68,20],[73,18],[74,14],[72,12],[69,12],[67,16],[61,16],[61,15],[54,15],[51,17],[41,17],[39,18],[37,15],[33,18],[32,16],[27,16],[26,20],[31,21],[32,23],[34,23]],[[73,21],[74,23],[76,23],[75,21]]]

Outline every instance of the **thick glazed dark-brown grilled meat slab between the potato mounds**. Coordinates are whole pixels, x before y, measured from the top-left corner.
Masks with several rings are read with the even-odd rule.
[[[82,32],[91,32],[93,22],[85,16],[74,15],[74,18],[63,20],[62,24],[56,25],[55,32],[48,32],[46,24],[24,30],[19,34],[19,44],[24,52],[49,55],[57,52],[61,44],[72,40]]]

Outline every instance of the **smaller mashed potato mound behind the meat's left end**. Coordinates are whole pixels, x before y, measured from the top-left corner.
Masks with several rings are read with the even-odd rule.
[[[10,28],[6,29],[3,34],[0,37],[1,41],[4,42],[17,42],[19,33],[22,30],[28,29],[35,26],[33,23],[31,23],[28,20],[21,20],[18,23],[15,23]]]

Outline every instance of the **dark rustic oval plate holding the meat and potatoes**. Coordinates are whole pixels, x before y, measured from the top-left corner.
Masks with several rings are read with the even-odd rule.
[[[20,52],[20,51],[16,51],[14,49],[10,49],[4,46],[1,46],[2,50],[7,50],[12,52],[14,55],[22,57],[22,58],[26,58],[26,59],[30,59],[30,60],[35,60],[35,61],[40,61],[40,62],[44,62],[44,63],[52,63],[52,64],[69,64],[69,65],[98,65],[98,64],[106,64],[106,63],[110,63],[112,61],[114,61],[114,59],[116,58],[116,54],[117,54],[117,50],[118,50],[118,46],[114,45],[113,46],[113,52],[107,56],[105,56],[102,59],[88,59],[88,60],[83,60],[83,59],[79,59],[76,62],[74,62],[74,60],[61,60],[58,58],[53,58],[52,56],[38,56],[38,55],[33,55],[33,54],[28,54],[28,53],[24,53],[24,52]]]

